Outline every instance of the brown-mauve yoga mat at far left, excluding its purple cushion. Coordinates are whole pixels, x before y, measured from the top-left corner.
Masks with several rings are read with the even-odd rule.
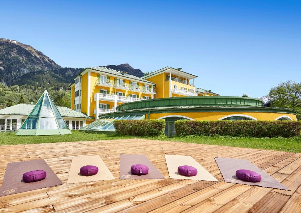
[[[33,183],[23,182],[23,174],[33,170],[46,171],[46,178]],[[61,184],[63,184],[62,181],[56,176],[54,171],[52,171],[43,159],[13,162],[7,164],[0,190],[0,196],[27,192]]]

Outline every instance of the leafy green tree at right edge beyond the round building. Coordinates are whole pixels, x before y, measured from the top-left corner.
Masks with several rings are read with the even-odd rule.
[[[271,106],[289,108],[297,111],[297,120],[301,120],[301,83],[291,80],[272,87],[267,95]]]

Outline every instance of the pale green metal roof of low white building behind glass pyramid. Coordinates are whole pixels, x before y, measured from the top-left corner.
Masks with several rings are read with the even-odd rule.
[[[0,109],[0,114],[11,114],[11,115],[28,115],[31,110],[35,107],[35,104],[17,104],[11,107]],[[58,111],[63,117],[82,117],[90,118],[81,112],[76,112],[68,107],[57,106]],[[94,118],[94,117],[93,117]]]

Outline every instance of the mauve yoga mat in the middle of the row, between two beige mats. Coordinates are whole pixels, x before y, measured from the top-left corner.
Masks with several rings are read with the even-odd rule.
[[[143,164],[148,166],[148,174],[131,173],[131,166]],[[160,171],[145,155],[120,155],[120,179],[165,179]]]

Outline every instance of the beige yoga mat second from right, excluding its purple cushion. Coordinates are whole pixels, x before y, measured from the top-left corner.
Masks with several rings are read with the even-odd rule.
[[[203,168],[191,156],[186,155],[165,155],[169,177],[173,179],[187,179],[187,180],[207,180],[218,181],[212,174]],[[179,166],[193,166],[197,169],[197,175],[187,177],[178,173]]]

